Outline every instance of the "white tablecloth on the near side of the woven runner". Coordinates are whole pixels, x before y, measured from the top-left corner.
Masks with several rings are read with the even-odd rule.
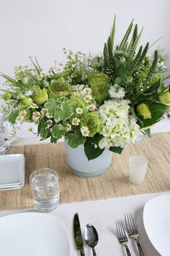
[[[79,213],[81,223],[81,232],[84,232],[84,226],[91,223],[95,226],[99,234],[99,243],[97,244],[97,256],[122,256],[125,251],[117,241],[115,221],[124,221],[125,213],[133,213],[140,233],[140,244],[146,256],[160,256],[146,235],[143,226],[143,207],[145,203],[153,197],[165,195],[169,192],[161,192],[148,195],[134,195],[129,197],[116,197],[107,200],[94,200],[87,202],[76,202],[71,204],[59,205],[51,213],[63,221],[68,231],[71,242],[71,256],[80,255],[76,250],[73,240],[73,216]],[[32,210],[30,210],[32,211]],[[17,213],[17,211],[2,211],[0,216]],[[139,255],[134,241],[129,239],[128,246],[132,256]],[[84,245],[86,256],[91,256],[91,249]],[[50,256],[50,255],[49,255]],[[164,255],[163,255],[164,256]]]

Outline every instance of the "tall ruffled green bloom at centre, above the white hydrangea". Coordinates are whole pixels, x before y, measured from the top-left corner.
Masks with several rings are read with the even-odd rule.
[[[104,73],[92,74],[89,79],[91,90],[98,103],[102,103],[109,98],[109,80],[110,78]]]

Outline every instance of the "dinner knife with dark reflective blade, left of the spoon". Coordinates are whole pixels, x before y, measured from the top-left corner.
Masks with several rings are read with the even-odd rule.
[[[81,256],[85,256],[78,213],[76,213],[73,218],[73,233],[74,233],[74,240],[76,243],[76,248],[80,251]]]

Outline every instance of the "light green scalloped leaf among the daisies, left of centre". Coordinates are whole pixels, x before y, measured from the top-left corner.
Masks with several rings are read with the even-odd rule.
[[[61,108],[55,109],[55,116],[59,117],[61,120],[66,120],[72,114],[71,105],[68,102],[63,102]]]

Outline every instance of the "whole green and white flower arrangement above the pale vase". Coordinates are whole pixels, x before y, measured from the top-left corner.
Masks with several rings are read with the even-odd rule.
[[[31,68],[16,67],[14,78],[1,73],[6,119],[14,126],[34,122],[42,140],[55,143],[64,136],[72,148],[84,144],[89,160],[105,148],[121,153],[139,132],[150,137],[151,125],[169,111],[170,76],[161,51],[149,56],[149,43],[138,47],[141,33],[131,22],[115,44],[114,20],[101,55],[63,48],[66,64],[55,62],[48,72],[35,58]]]

